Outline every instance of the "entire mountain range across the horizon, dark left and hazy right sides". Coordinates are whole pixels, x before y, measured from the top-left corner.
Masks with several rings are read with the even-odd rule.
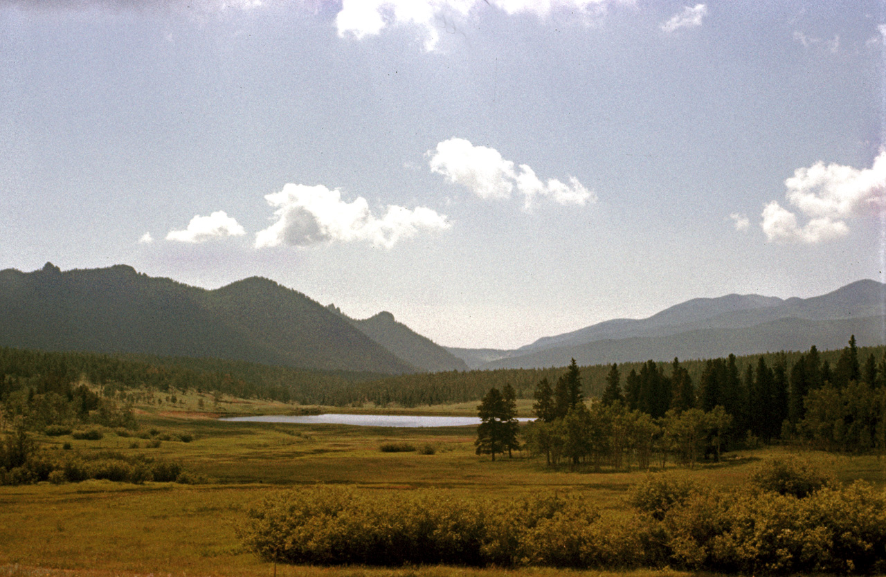
[[[398,374],[713,358],[886,344],[886,285],[827,295],[695,298],[648,319],[612,319],[515,350],[445,348],[379,312],[351,319],[274,281],[199,289],[128,265],[0,271],[0,346],[246,360]]]

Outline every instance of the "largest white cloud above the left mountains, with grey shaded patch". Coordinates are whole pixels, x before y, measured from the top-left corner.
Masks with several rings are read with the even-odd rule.
[[[322,184],[287,184],[265,199],[276,209],[274,223],[255,235],[256,248],[368,241],[390,249],[402,238],[450,226],[446,216],[424,206],[409,210],[391,204],[385,215],[377,218],[365,198],[358,196],[347,203],[338,189]]]

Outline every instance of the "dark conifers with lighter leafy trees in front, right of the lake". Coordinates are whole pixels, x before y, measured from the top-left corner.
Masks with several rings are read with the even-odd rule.
[[[813,346],[790,364],[779,353],[742,369],[729,355],[705,361],[697,384],[676,358],[669,365],[648,361],[631,368],[624,387],[618,365],[610,365],[600,401],[588,405],[572,359],[554,385],[538,382],[537,419],[525,427],[522,447],[506,433],[516,427],[513,405],[490,389],[478,407],[478,454],[525,448],[548,465],[618,470],[664,466],[668,458],[692,466],[700,458],[719,460],[723,450],[776,440],[886,450],[886,354],[878,361],[870,352],[862,362],[853,335],[835,360],[822,360]]]

